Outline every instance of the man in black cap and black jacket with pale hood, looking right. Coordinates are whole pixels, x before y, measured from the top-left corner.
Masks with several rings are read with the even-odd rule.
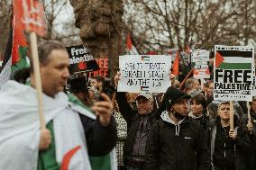
[[[161,120],[149,135],[146,169],[208,170],[210,154],[200,123],[187,117],[189,95],[169,87],[161,103]],[[164,108],[164,109],[163,109]]]

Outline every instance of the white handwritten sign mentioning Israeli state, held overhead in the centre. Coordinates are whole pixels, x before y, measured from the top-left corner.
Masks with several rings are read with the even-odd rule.
[[[170,86],[171,58],[163,55],[125,55],[119,57],[121,80],[118,92],[164,93]]]

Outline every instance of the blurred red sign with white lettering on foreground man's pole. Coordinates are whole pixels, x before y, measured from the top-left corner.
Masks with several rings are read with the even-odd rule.
[[[36,0],[14,0],[16,26],[25,31],[44,35],[43,7]]]

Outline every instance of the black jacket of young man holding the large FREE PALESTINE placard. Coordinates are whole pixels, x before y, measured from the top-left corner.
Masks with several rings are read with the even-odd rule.
[[[233,170],[245,170],[247,152],[251,150],[251,141],[246,133],[246,128],[238,123],[234,116],[234,130],[236,139],[228,137],[230,128],[223,128],[220,117],[210,126],[209,148],[211,149],[212,166],[228,167]]]

